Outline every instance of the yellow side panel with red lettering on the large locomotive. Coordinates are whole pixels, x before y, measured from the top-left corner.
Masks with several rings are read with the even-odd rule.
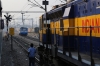
[[[92,36],[100,37],[100,15],[92,15],[86,17],[75,18],[75,27],[79,27],[79,36],[90,36],[90,26],[92,26]],[[87,27],[87,28],[86,28]],[[75,28],[77,35],[77,28]]]

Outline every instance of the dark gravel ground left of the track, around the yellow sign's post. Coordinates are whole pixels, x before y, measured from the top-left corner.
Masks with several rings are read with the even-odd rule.
[[[1,66],[28,66],[27,54],[13,42],[11,51],[10,41],[3,42]]]

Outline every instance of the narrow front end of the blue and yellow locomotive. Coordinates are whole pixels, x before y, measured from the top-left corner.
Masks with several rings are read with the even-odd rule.
[[[46,14],[43,14],[40,17],[40,45],[46,47],[47,44],[51,44],[50,34],[50,20],[46,18]]]

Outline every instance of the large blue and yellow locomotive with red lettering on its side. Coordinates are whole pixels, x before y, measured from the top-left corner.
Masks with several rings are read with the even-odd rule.
[[[99,66],[100,0],[74,0],[43,14],[39,34],[39,51],[47,56],[77,66]]]

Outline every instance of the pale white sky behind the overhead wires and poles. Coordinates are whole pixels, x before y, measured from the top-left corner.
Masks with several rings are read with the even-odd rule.
[[[27,0],[1,0],[2,1],[2,6],[3,6],[3,11],[43,11],[42,9],[40,9],[39,7],[31,7],[30,2],[28,2]],[[31,0],[32,2],[34,2],[34,0]],[[36,0],[39,4],[42,4],[43,0]],[[53,5],[56,4],[62,4],[61,1],[63,0],[47,0],[49,1],[49,5],[47,6],[47,10],[51,10]],[[35,2],[34,2],[35,3]],[[44,5],[42,5],[44,7]],[[21,18],[21,14],[20,13],[10,13],[11,15],[14,15],[13,18]],[[30,15],[28,18],[33,18],[34,21],[36,21],[38,19],[39,16],[42,15],[42,13],[28,13],[28,14],[24,14],[24,18],[27,18],[28,15]],[[4,14],[2,15],[2,17],[4,18]],[[36,19],[37,18],[37,19]],[[21,20],[20,20],[21,21]]]

